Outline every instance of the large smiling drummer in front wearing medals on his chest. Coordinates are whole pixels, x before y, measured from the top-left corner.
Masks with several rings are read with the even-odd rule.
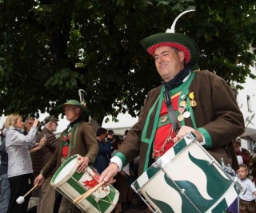
[[[185,34],[175,33],[174,25],[166,33],[151,35],[140,43],[154,57],[162,84],[159,82],[148,93],[138,122],[111,158],[100,181],[113,183],[118,171],[137,156],[140,176],[189,132],[218,162],[223,158],[237,170],[231,141],[244,132],[242,112],[225,80],[198,70],[197,43]]]

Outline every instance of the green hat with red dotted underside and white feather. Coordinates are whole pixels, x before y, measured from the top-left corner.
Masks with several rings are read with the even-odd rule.
[[[185,34],[177,34],[174,31],[175,24],[183,14],[194,10],[186,10],[182,14],[179,14],[175,18],[173,25],[170,29],[166,30],[166,33],[154,34],[144,38],[140,41],[143,48],[146,49],[150,55],[154,56],[154,50],[160,46],[171,46],[181,50],[185,53],[185,64],[192,67],[198,62],[199,59],[199,47],[198,44],[189,36]]]

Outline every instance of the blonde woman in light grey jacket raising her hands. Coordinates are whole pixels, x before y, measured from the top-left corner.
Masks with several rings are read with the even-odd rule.
[[[33,186],[32,162],[30,148],[34,147],[39,120],[35,119],[33,127],[26,136],[22,134],[23,122],[19,114],[10,114],[6,118],[4,134],[8,154],[8,178],[10,181],[10,203],[8,213],[25,213],[30,195],[21,204],[16,203],[19,196],[25,195]],[[45,140],[45,139],[43,139]]]

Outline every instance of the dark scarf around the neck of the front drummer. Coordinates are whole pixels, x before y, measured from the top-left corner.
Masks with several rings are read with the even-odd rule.
[[[190,74],[190,67],[186,66],[182,69],[173,79],[168,82],[162,81],[162,84],[169,91],[181,85],[183,83],[183,79]]]

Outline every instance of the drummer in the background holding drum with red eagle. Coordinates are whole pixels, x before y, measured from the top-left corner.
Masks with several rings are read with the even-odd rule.
[[[60,136],[60,145],[56,148],[54,156],[41,173],[35,179],[34,184],[41,184],[43,179],[50,176],[50,172],[60,167],[60,165],[70,156],[79,154],[77,172],[85,172],[89,164],[93,164],[98,155],[98,144],[95,139],[92,125],[85,121],[90,112],[78,101],[70,100],[63,105],[59,105],[56,110],[65,113],[66,119],[70,121],[68,127]],[[62,203],[59,207],[59,213],[81,212],[66,197],[62,197]]]

